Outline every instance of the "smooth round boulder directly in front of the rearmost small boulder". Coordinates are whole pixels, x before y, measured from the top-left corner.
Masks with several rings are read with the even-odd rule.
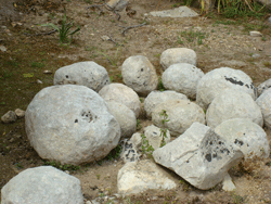
[[[169,66],[162,75],[162,81],[166,89],[185,94],[190,99],[196,99],[198,80],[204,76],[203,71],[188,63],[178,63]]]

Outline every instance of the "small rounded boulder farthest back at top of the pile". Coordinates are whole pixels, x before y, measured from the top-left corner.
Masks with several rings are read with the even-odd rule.
[[[160,65],[163,71],[177,63],[189,63],[196,66],[195,51],[188,48],[171,48],[162,53]]]

